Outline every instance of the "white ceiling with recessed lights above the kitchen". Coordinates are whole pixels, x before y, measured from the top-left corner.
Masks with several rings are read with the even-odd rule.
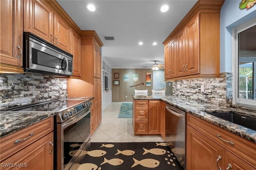
[[[151,68],[164,64],[162,42],[197,0],[57,0],[81,30],[95,30],[102,55],[112,68]],[[85,4],[94,4],[90,12]],[[167,12],[160,7],[168,4]],[[106,41],[103,36],[114,36]],[[142,41],[143,45],[138,45]],[[153,46],[152,43],[158,44]],[[132,66],[132,67],[131,67]]]

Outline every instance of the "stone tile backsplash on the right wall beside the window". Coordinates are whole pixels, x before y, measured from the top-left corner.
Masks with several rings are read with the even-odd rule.
[[[173,95],[215,105],[232,104],[232,73],[218,78],[192,78],[173,82]],[[202,89],[204,88],[204,89]]]

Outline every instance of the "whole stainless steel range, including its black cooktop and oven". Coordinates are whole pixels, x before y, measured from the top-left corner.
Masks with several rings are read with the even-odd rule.
[[[90,148],[90,98],[65,98],[8,109],[54,112],[54,169],[77,169]]]

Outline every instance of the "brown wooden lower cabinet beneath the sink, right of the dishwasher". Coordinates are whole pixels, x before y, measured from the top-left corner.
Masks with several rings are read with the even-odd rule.
[[[189,113],[186,129],[186,170],[256,170],[255,143]]]

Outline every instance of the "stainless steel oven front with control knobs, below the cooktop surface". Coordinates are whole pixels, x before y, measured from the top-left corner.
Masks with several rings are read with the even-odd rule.
[[[56,117],[56,169],[76,170],[90,148],[90,102]]]

